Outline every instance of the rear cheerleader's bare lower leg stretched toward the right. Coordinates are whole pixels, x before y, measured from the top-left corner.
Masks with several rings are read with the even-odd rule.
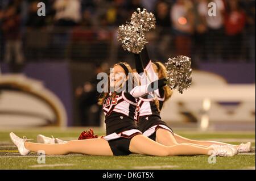
[[[191,144],[196,144],[196,145],[203,145],[203,146],[210,146],[210,145],[230,145],[226,144],[224,142],[218,142],[218,141],[200,141],[200,140],[190,140],[188,138],[182,137],[179,134],[174,133],[175,140],[179,144],[184,144],[184,143],[191,143]],[[236,146],[236,145],[234,145]]]

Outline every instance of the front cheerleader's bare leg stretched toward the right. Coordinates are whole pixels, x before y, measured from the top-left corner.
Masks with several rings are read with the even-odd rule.
[[[210,148],[201,148],[200,146],[187,144],[164,146],[141,134],[131,138],[129,149],[132,153],[155,156],[210,155],[210,151],[212,150]]]

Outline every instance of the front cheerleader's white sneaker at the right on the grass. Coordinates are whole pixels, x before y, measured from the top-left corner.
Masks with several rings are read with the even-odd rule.
[[[235,155],[228,145],[210,145],[209,148],[213,149],[212,156],[232,157]]]

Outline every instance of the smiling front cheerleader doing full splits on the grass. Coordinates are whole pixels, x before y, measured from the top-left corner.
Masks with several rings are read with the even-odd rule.
[[[129,74],[130,73],[130,74]],[[197,146],[192,144],[176,144],[164,146],[144,136],[139,131],[135,121],[137,98],[154,91],[154,83],[162,87],[165,79],[159,79],[148,85],[135,86],[131,91],[123,91],[123,87],[131,81],[132,70],[126,63],[113,66],[109,75],[110,88],[114,92],[106,92],[99,99],[105,113],[106,136],[88,140],[72,140],[64,144],[38,144],[28,142],[26,138],[19,138],[10,133],[11,141],[18,147],[21,155],[30,151],[44,150],[46,155],[65,155],[81,153],[86,155],[129,155],[131,153],[168,156],[168,155],[220,155],[233,156],[232,149],[222,146],[220,148]],[[125,75],[121,77],[120,75]],[[122,90],[122,91],[121,91]]]

